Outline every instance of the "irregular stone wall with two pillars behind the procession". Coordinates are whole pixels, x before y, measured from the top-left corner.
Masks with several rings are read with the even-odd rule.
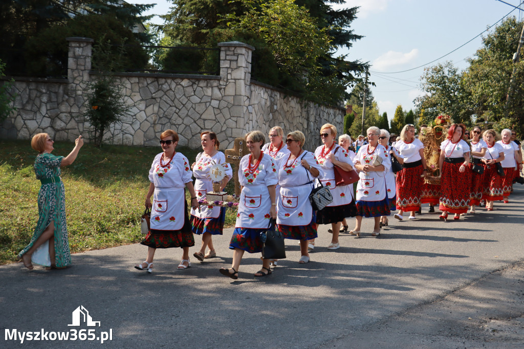
[[[15,78],[16,112],[0,127],[0,138],[30,139],[39,132],[56,140],[89,137],[84,120],[86,89],[97,73],[91,70],[92,39],[68,38],[68,79]],[[250,130],[265,134],[273,126],[285,132],[301,130],[305,148],[320,145],[320,126],[332,123],[342,130],[343,108],[319,105],[287,95],[251,79],[253,47],[242,42],[222,42],[220,75],[115,74],[124,84],[131,115],[107,130],[108,144],[157,146],[160,133],[176,130],[179,144],[197,148],[200,133],[212,130],[221,149],[233,147],[235,137]],[[267,140],[269,141],[269,140]]]

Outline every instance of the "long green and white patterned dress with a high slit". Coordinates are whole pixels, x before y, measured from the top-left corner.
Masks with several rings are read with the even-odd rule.
[[[60,165],[62,156],[51,154],[39,154],[35,160],[35,173],[37,179],[46,179],[60,176]],[[69,239],[67,224],[65,223],[65,190],[63,183],[42,184],[38,192],[38,223],[31,242],[18,254],[21,257],[42,235],[45,228],[54,223],[54,254],[57,267],[65,267],[71,264],[71,252],[69,250]],[[31,262],[43,266],[50,266],[49,244],[42,244],[34,254]]]

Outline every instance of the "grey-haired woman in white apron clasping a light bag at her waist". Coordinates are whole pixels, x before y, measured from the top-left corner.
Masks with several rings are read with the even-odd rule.
[[[369,127],[369,144],[362,146],[355,156],[355,168],[360,171],[356,195],[356,224],[351,235],[361,235],[363,217],[374,217],[372,236],[380,235],[380,217],[391,213],[386,190],[386,173],[391,167],[386,148],[378,144],[380,129]]]

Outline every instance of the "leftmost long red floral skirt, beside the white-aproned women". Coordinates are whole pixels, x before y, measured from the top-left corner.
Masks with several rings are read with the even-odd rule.
[[[418,211],[424,179],[422,165],[397,172],[397,210]]]

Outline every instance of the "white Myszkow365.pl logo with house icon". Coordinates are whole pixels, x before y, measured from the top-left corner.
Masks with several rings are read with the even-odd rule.
[[[68,326],[100,327],[100,321],[93,321],[89,311],[83,306],[78,307],[73,311],[72,323]],[[6,341],[100,341],[103,344],[105,341],[113,340],[113,329],[109,331],[97,331],[96,329],[71,329],[69,331],[18,331],[17,329],[5,329]]]

